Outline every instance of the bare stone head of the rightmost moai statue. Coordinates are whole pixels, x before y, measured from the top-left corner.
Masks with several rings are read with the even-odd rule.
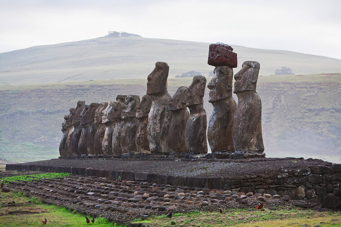
[[[246,61],[241,70],[235,75],[234,93],[255,91],[260,64],[256,61]]]

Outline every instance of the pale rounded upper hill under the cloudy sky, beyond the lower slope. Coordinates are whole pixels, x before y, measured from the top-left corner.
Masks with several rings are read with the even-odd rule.
[[[275,74],[283,66],[296,75],[341,72],[339,59],[230,45],[238,54],[235,72],[246,60],[260,62],[263,76]],[[168,63],[169,78],[193,70],[207,76],[214,69],[207,64],[208,46],[136,36],[34,46],[0,53],[0,85],[146,78],[157,61]]]

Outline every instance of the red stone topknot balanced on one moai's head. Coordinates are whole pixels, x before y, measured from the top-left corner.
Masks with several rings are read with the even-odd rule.
[[[233,48],[224,43],[210,44],[208,52],[208,64],[212,66],[237,67],[237,54],[232,52]]]

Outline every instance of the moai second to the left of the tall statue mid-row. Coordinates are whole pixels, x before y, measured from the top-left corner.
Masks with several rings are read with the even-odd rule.
[[[138,125],[136,119],[136,106],[140,103],[138,95],[127,95],[122,110],[122,119],[124,126],[121,131],[121,149],[122,155],[137,154],[135,137]]]

